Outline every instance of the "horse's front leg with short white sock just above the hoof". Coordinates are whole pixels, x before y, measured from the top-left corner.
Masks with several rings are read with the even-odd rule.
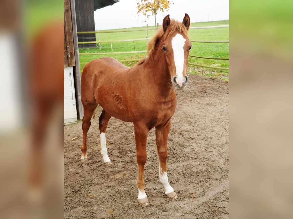
[[[147,161],[147,133],[148,129],[144,125],[134,124],[136,161],[138,165],[138,177],[136,182],[136,185],[138,187],[137,199],[140,205],[149,204],[147,194],[144,192],[144,164]]]

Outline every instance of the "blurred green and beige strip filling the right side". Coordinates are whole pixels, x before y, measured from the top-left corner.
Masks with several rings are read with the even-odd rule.
[[[231,218],[293,218],[292,11],[230,1]]]

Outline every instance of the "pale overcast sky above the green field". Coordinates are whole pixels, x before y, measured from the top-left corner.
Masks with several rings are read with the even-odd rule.
[[[173,0],[168,12],[158,13],[156,21],[161,25],[165,15],[183,20],[185,13],[190,16],[191,22],[228,20],[229,0]],[[113,6],[107,6],[95,11],[96,30],[142,27],[154,25],[154,16],[149,19],[143,14],[137,14],[136,0],[120,0]]]

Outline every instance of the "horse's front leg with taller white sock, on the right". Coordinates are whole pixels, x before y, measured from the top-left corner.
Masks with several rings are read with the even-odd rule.
[[[167,175],[167,139],[171,128],[171,119],[164,125],[156,126],[156,145],[159,155],[159,179],[165,188],[165,194],[170,199],[176,199],[177,194],[169,184]]]

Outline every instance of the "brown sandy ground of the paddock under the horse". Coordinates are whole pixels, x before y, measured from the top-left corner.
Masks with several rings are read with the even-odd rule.
[[[144,168],[148,206],[137,202],[132,123],[110,119],[106,139],[113,165],[103,165],[98,106],[88,131],[88,162],[80,161],[81,121],[64,126],[64,218],[229,218],[229,84],[190,75],[177,99],[167,171],[178,198],[168,199],[159,181],[154,128]]]

